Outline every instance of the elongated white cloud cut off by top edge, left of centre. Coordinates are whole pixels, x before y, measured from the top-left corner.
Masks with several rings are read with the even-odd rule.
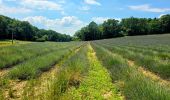
[[[62,10],[62,5],[48,0],[21,0],[22,6],[39,10]]]

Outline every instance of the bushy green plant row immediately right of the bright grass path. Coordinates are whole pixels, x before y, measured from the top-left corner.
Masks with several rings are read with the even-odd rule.
[[[128,65],[122,56],[108,51],[107,49],[93,44],[98,58],[111,72],[112,80],[117,82],[120,90],[127,100],[169,100],[170,92],[145,77],[136,67]]]

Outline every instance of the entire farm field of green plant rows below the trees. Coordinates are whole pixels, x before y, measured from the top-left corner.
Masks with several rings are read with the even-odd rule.
[[[170,100],[170,35],[3,44],[0,100]]]

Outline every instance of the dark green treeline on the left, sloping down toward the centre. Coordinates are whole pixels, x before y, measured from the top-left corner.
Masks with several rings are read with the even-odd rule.
[[[19,21],[0,15],[0,39],[14,39],[25,41],[71,41],[72,37],[53,30],[38,29],[27,21]]]

